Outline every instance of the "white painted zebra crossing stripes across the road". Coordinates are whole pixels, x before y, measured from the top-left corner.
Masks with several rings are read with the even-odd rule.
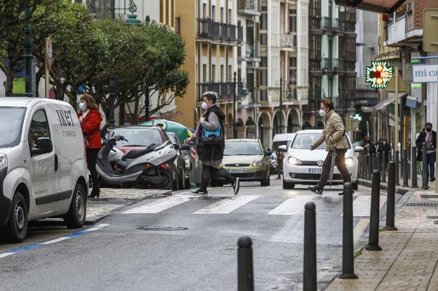
[[[245,205],[263,198],[261,195],[246,195],[246,196],[209,196],[213,201],[199,210],[192,212],[193,215],[229,215],[234,212],[239,212]],[[193,203],[199,201],[199,196],[193,196],[190,193],[175,194],[166,198],[159,198],[150,203],[140,205],[122,212],[122,214],[157,214],[164,211],[172,211],[177,205],[183,203]],[[315,196],[315,195],[297,195],[291,198],[286,198],[276,207],[265,212],[265,215],[303,215],[304,205],[313,201],[314,203],[324,203],[324,199],[333,198],[331,196]],[[380,208],[383,207],[386,201],[386,196],[380,197]],[[259,205],[259,204],[258,204]],[[369,217],[371,207],[371,196],[357,196],[353,202],[354,217]],[[342,210],[340,210],[342,211]],[[342,212],[339,213],[342,216]]]

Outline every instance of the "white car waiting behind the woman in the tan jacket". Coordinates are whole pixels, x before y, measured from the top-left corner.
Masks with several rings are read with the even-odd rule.
[[[299,130],[287,149],[283,160],[283,189],[293,189],[296,184],[317,184],[322,172],[322,164],[327,156],[326,143],[323,142],[317,149],[310,151],[312,144],[322,130]],[[345,134],[349,149],[345,153],[345,165],[350,172],[353,189],[357,189],[358,163],[354,151],[363,151],[362,147],[352,148],[350,137]],[[286,149],[282,146],[281,149]],[[343,184],[343,178],[338,168],[333,171],[331,184]]]

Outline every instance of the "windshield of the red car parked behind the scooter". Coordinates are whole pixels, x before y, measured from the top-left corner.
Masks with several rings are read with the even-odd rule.
[[[148,147],[150,144],[163,143],[157,128],[114,128],[114,134],[123,135],[128,140],[119,140],[117,147]]]

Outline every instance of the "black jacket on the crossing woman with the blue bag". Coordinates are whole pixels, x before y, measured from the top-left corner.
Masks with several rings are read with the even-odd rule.
[[[214,112],[219,119],[220,123],[220,135],[222,136],[222,140],[220,140],[220,144],[216,146],[206,145],[202,142],[202,137],[204,135],[204,128],[202,126],[199,127],[198,133],[198,142],[197,142],[197,153],[199,155],[199,159],[201,161],[218,161],[223,158],[223,151],[225,149],[225,128],[224,128],[224,120],[225,113],[218,106],[213,106],[205,114],[203,114],[204,119],[208,121],[208,116]]]

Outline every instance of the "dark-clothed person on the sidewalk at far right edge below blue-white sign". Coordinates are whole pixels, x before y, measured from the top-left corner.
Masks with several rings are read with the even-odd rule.
[[[426,143],[427,149],[427,165],[429,165],[429,180],[434,182],[435,180],[435,151],[437,149],[437,132],[432,130],[432,123],[425,124],[425,128],[421,130],[416,140],[416,147],[418,149],[417,161],[423,160],[423,153],[421,152],[421,145]]]

